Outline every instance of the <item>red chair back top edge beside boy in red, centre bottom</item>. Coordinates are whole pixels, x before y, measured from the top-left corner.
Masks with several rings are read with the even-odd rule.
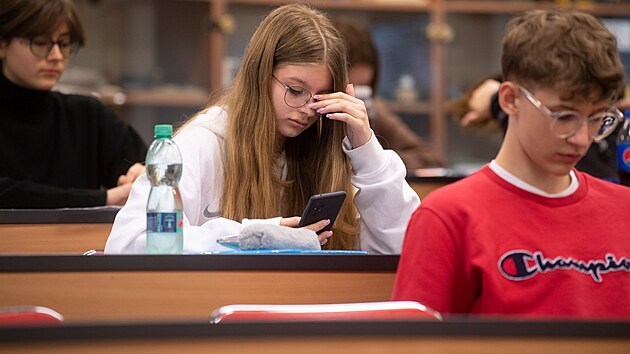
[[[310,322],[370,320],[442,320],[442,315],[415,301],[308,305],[226,305],[210,322]]]

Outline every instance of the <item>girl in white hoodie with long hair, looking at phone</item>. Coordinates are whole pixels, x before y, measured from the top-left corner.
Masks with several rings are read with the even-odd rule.
[[[316,234],[327,220],[304,227],[325,249],[400,252],[420,200],[400,157],[370,129],[347,69],[344,41],[324,13],[291,4],[262,20],[232,87],[174,137],[184,166],[184,252],[216,250],[219,237],[252,223],[290,232],[309,196],[333,191],[348,197],[332,231]],[[145,252],[148,193],[141,176],[106,253]]]

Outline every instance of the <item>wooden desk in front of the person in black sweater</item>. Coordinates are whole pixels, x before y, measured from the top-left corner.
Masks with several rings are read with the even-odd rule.
[[[103,249],[118,208],[0,209],[0,254]]]

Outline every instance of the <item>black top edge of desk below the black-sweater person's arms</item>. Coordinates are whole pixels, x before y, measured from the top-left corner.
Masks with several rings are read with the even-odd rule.
[[[111,224],[120,208],[0,209],[0,224]]]

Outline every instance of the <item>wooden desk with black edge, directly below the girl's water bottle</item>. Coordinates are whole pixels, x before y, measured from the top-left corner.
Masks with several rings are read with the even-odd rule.
[[[38,305],[68,323],[200,320],[237,303],[387,301],[398,256],[2,256],[0,306]]]

